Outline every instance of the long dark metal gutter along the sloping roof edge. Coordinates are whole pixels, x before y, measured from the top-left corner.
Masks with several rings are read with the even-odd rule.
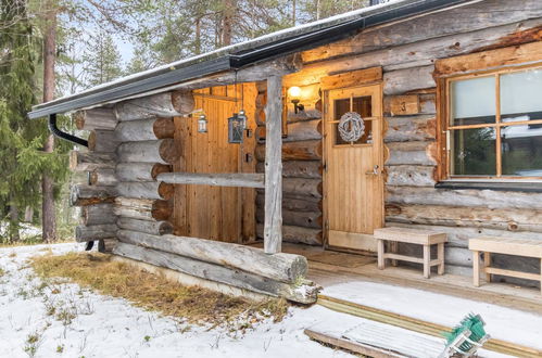
[[[381,12],[361,16],[337,25],[312,30],[307,34],[293,35],[290,38],[278,39],[254,49],[224,54],[216,59],[206,60],[194,64],[179,64],[178,67],[167,67],[136,77],[119,84],[111,84],[96,90],[56,100],[50,104],[43,103],[35,106],[28,114],[30,119],[43,117],[54,113],[64,113],[84,107],[98,105],[157,90],[175,84],[202,78],[220,72],[234,71],[262,61],[272,60],[290,53],[318,47],[320,44],[343,39],[360,29],[419,15],[426,12],[452,8],[472,0],[419,0],[406,3],[403,7],[382,9]],[[393,3],[391,3],[393,4]]]

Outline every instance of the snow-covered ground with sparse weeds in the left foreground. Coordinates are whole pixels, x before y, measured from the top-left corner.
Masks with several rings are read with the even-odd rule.
[[[265,321],[232,337],[225,328],[187,325],[76,284],[42,287],[26,260],[48,248],[55,254],[83,250],[80,244],[0,248],[5,271],[0,277],[0,357],[28,357],[33,350],[36,357],[86,358],[349,357],[303,334],[305,328],[336,319],[336,312],[319,306],[290,308],[282,322]],[[48,315],[51,305],[65,307],[65,317]]]

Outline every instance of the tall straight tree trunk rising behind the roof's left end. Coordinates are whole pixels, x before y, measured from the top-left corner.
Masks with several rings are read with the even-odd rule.
[[[54,62],[56,56],[56,9],[53,1],[47,3],[46,30],[43,38],[43,102],[52,101],[54,98]],[[54,150],[54,137],[49,135],[43,145],[43,152],[52,153]],[[42,239],[45,242],[56,240],[56,219],[54,217],[53,179],[46,171],[41,178],[41,225]]]

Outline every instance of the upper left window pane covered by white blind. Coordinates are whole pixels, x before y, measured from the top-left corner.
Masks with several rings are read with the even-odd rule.
[[[451,125],[495,123],[495,77],[455,80],[451,84]]]

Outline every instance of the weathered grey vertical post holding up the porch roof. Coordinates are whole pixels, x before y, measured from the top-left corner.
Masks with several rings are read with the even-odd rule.
[[[282,77],[267,79],[264,251],[282,246]]]

